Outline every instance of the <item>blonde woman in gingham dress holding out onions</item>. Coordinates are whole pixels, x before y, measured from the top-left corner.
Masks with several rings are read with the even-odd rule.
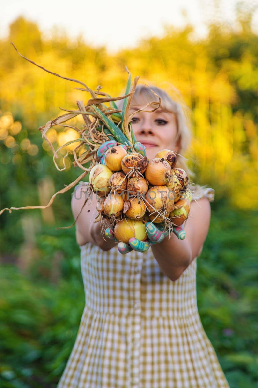
[[[183,154],[190,132],[182,108],[164,90],[152,90],[161,97],[161,106],[135,114],[135,137],[145,145],[149,159],[162,149]],[[130,113],[154,100],[150,88],[138,86]],[[177,166],[191,176],[182,156]],[[192,189],[196,201],[191,203],[185,239],[174,233],[163,236],[144,253],[132,244],[132,251],[121,255],[117,242],[105,239],[100,223],[93,222],[97,199],[84,206],[76,239],[85,308],[58,388],[229,387],[196,304],[196,258],[207,237],[214,192]],[[82,182],[72,198],[75,219],[85,201],[79,195],[83,191]]]

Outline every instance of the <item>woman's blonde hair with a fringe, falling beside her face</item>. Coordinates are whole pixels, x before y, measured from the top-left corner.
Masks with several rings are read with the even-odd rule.
[[[176,91],[176,98],[172,99],[164,89],[161,89],[154,85],[147,86],[145,84],[137,85],[130,106],[142,106],[152,101],[159,102],[159,98],[152,92],[152,90],[161,99],[160,107],[164,109],[164,111],[174,113],[176,115],[178,131],[175,140],[180,144],[180,150],[177,154],[176,166],[179,168],[183,168],[183,170],[186,171],[191,182],[194,178],[194,173],[188,167],[186,163],[187,159],[184,156],[184,154],[188,150],[188,147],[190,146],[192,138],[191,123],[189,119],[190,109],[187,108],[186,105],[183,103],[181,95],[175,88],[173,88],[173,90]],[[123,100],[118,101],[117,105],[119,109],[121,109],[123,106]],[[146,108],[146,110],[151,111],[154,108],[155,105],[150,105]],[[195,199],[198,199],[204,193],[206,185],[200,186],[190,183],[189,187],[193,192],[193,197]]]

